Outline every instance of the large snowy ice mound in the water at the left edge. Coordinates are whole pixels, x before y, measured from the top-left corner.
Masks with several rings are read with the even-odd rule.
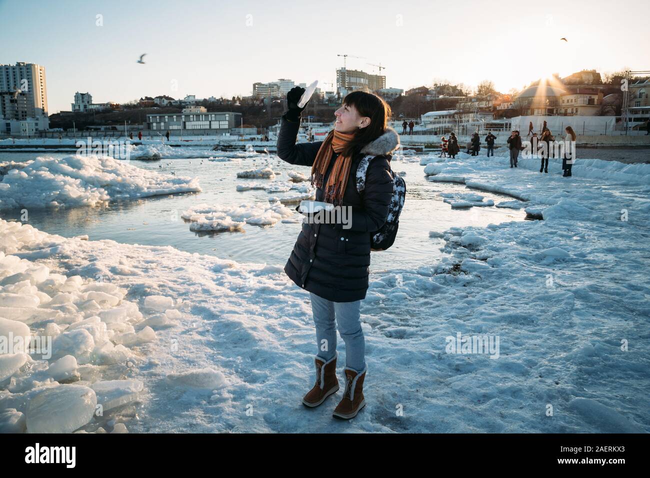
[[[6,169],[0,176],[0,210],[95,206],[110,200],[201,191],[198,178],[148,171],[112,157],[42,156]]]

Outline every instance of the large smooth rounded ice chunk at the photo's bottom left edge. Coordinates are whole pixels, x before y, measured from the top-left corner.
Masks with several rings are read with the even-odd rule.
[[[45,388],[27,404],[27,432],[70,433],[88,423],[97,406],[92,388],[57,385]]]

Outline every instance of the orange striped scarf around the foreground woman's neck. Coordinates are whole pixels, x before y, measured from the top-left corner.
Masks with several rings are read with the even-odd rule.
[[[354,133],[340,133],[333,129],[328,137],[320,145],[316,154],[313,166],[311,166],[311,184],[316,187],[323,187],[323,179],[330,167],[330,161],[333,153],[340,153],[345,146],[354,138]],[[352,155],[339,155],[332,166],[330,177],[324,189],[324,201],[341,206],[343,194],[350,176],[350,165],[352,165]]]

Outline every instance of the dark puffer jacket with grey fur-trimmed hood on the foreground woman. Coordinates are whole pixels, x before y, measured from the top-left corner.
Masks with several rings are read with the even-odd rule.
[[[281,119],[278,156],[292,165],[311,167],[322,141],[296,144],[300,123]],[[391,153],[399,144],[399,136],[388,128],[382,136],[356,153],[350,166],[350,177],[343,194],[343,206],[352,206],[349,229],[341,224],[303,222],[298,240],[285,265],[285,272],[299,287],[332,302],[354,302],[365,299],[370,273],[370,233],[386,222],[393,196],[393,177],[389,172]],[[362,194],[356,188],[356,170],[365,155],[370,161]],[[330,177],[335,157],[324,176]],[[318,188],[316,200],[323,200]]]

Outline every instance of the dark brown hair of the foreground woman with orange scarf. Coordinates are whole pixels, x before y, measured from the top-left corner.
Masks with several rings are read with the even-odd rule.
[[[370,124],[357,129],[354,138],[341,152],[344,156],[361,151],[363,146],[383,135],[388,124],[388,118],[393,114],[391,107],[374,93],[353,91],[343,98],[343,104],[354,106],[359,116],[370,118]],[[333,134],[333,133],[332,133]]]

